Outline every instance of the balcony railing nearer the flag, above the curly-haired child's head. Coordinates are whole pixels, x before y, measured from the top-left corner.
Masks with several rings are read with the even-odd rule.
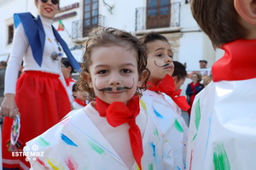
[[[105,25],[105,16],[99,14],[97,16],[91,17],[86,22],[84,20],[75,20],[72,23],[72,39],[83,39],[86,37],[88,32],[95,26]]]

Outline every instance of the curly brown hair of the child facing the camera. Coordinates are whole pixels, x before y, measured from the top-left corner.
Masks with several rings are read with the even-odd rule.
[[[138,73],[139,77],[145,76],[143,81],[143,86],[137,89],[136,94],[141,95],[141,90],[146,89],[146,83],[149,77],[149,71],[147,66],[147,54],[143,45],[137,37],[133,36],[130,32],[121,31],[112,27],[98,26],[94,28],[89,33],[89,39],[84,43],[85,51],[82,58],[81,69],[79,74],[78,88],[87,91],[90,94],[90,98],[95,97],[94,90],[89,87],[89,84],[84,79],[84,74],[90,73],[89,67],[91,65],[91,53],[93,50],[99,47],[109,47],[109,46],[121,46],[127,47],[135,50],[137,52],[137,63],[138,63]]]

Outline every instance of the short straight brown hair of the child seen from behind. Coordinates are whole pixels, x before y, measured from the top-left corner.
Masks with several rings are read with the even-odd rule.
[[[192,0],[191,10],[202,31],[210,37],[214,48],[248,34],[241,26],[234,0]]]

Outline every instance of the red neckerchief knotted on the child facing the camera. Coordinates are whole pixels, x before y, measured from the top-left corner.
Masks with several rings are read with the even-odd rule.
[[[141,159],[143,156],[142,134],[135,122],[136,116],[140,112],[139,98],[134,95],[127,106],[123,102],[113,102],[111,105],[96,97],[96,110],[100,116],[106,116],[108,123],[112,127],[118,127],[127,122],[130,125],[129,136],[131,142],[131,150],[135,161],[140,169],[142,169]]]

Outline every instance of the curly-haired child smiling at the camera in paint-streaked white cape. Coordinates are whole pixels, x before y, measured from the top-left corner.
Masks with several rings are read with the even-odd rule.
[[[91,31],[78,88],[96,101],[27,143],[44,152],[44,157],[30,157],[32,167],[171,169],[168,141],[140,111],[146,65],[146,53],[131,33],[104,27]]]

